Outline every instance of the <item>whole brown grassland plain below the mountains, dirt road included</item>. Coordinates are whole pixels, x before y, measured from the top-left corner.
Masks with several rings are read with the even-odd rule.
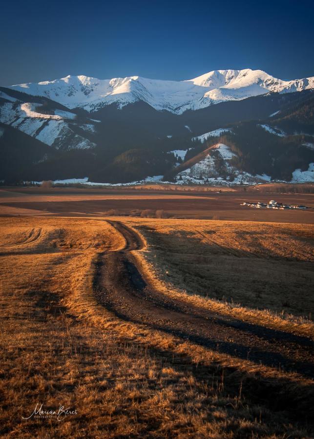
[[[313,437],[313,212],[167,195],[0,191],[1,437]]]

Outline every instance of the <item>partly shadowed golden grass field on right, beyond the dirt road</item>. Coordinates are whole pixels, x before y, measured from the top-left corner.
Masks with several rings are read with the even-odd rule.
[[[312,226],[125,222],[146,241],[134,257],[158,290],[237,319],[314,337]]]

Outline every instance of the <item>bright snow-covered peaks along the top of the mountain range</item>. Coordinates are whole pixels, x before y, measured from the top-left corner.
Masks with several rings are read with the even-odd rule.
[[[119,108],[144,101],[156,110],[182,114],[227,100],[242,100],[269,92],[291,93],[314,88],[314,77],[283,81],[262,70],[214,70],[191,80],[151,80],[132,76],[99,80],[67,76],[60,80],[13,85],[11,88],[44,96],[64,106],[95,112],[116,103]]]

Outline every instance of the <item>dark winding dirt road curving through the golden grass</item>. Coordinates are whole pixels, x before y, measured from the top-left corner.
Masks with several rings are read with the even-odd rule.
[[[132,250],[141,236],[120,221],[108,221],[126,240],[123,250],[99,256],[96,297],[119,319],[145,324],[198,345],[258,364],[314,377],[313,342],[301,336],[230,318],[158,292],[140,273]]]

